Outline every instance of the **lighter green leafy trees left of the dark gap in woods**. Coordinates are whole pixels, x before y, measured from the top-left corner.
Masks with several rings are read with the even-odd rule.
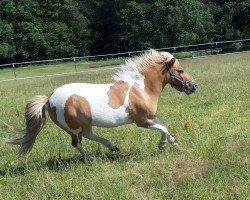
[[[0,62],[88,53],[89,6],[80,0],[0,1]]]

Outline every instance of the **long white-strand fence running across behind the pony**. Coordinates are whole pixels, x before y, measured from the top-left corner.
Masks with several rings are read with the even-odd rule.
[[[177,46],[177,47],[167,47],[156,49],[158,51],[168,51],[175,55],[177,58],[193,58],[200,56],[218,55],[225,54],[229,52],[241,52],[250,50],[250,39],[245,40],[233,40],[233,41],[222,41],[222,42],[211,42],[204,44]],[[6,70],[3,70],[0,74],[0,82],[19,80],[27,78],[37,78],[45,76],[60,76],[66,74],[82,73],[89,68],[98,67],[95,70],[103,70],[100,67],[109,66],[105,69],[113,69],[112,65],[119,65],[122,60],[126,57],[132,55],[138,55],[143,51],[132,51],[105,55],[95,55],[95,56],[83,56],[83,57],[72,57],[72,58],[62,58],[62,59],[51,59],[51,60],[41,60],[41,61],[31,61],[31,62],[20,62],[20,63],[10,63],[0,65],[0,71],[3,68],[8,68],[8,75],[4,76]],[[101,62],[100,62],[101,61]],[[66,65],[65,65],[66,64]],[[23,67],[32,65],[33,67],[24,69]],[[61,65],[61,66],[58,66]],[[46,66],[46,72],[39,75],[34,75],[31,69],[36,70],[39,66]],[[57,66],[53,68],[53,66]],[[12,72],[10,72],[10,70]],[[63,73],[62,73],[63,71]],[[91,69],[90,71],[93,71]],[[38,72],[39,73],[39,72]]]

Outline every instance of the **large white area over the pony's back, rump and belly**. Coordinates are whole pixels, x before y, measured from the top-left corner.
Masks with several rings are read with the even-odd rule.
[[[93,126],[114,127],[129,123],[128,114],[125,112],[128,101],[118,109],[108,105],[108,91],[112,84],[84,84],[72,83],[59,87],[50,97],[51,107],[56,107],[58,122],[66,129],[78,133],[79,130],[71,130],[64,118],[65,103],[72,95],[84,97],[90,105]]]

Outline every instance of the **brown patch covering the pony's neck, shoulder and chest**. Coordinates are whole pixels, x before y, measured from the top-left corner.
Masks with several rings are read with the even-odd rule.
[[[144,75],[144,91],[135,83],[129,91],[129,107],[126,112],[137,126],[147,128],[155,124],[151,120],[156,115],[159,96],[165,87],[165,62],[156,63],[140,73]]]

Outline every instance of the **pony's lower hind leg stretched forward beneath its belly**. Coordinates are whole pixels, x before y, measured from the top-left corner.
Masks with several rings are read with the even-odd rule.
[[[84,127],[82,131],[82,136],[87,139],[103,144],[110,151],[119,151],[119,148],[115,144],[113,144],[110,140],[107,140],[105,138],[99,137],[96,134],[94,134],[91,127]]]

